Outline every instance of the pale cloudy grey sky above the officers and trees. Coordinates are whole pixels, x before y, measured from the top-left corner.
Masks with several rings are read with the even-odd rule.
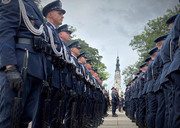
[[[41,0],[42,6],[52,0]],[[104,83],[111,89],[114,83],[116,58],[122,71],[138,60],[129,46],[135,35],[141,34],[149,20],[163,16],[179,0],[61,0],[66,10],[63,24],[77,29],[76,37],[97,48],[103,56],[110,78]],[[123,76],[122,90],[125,89]]]

